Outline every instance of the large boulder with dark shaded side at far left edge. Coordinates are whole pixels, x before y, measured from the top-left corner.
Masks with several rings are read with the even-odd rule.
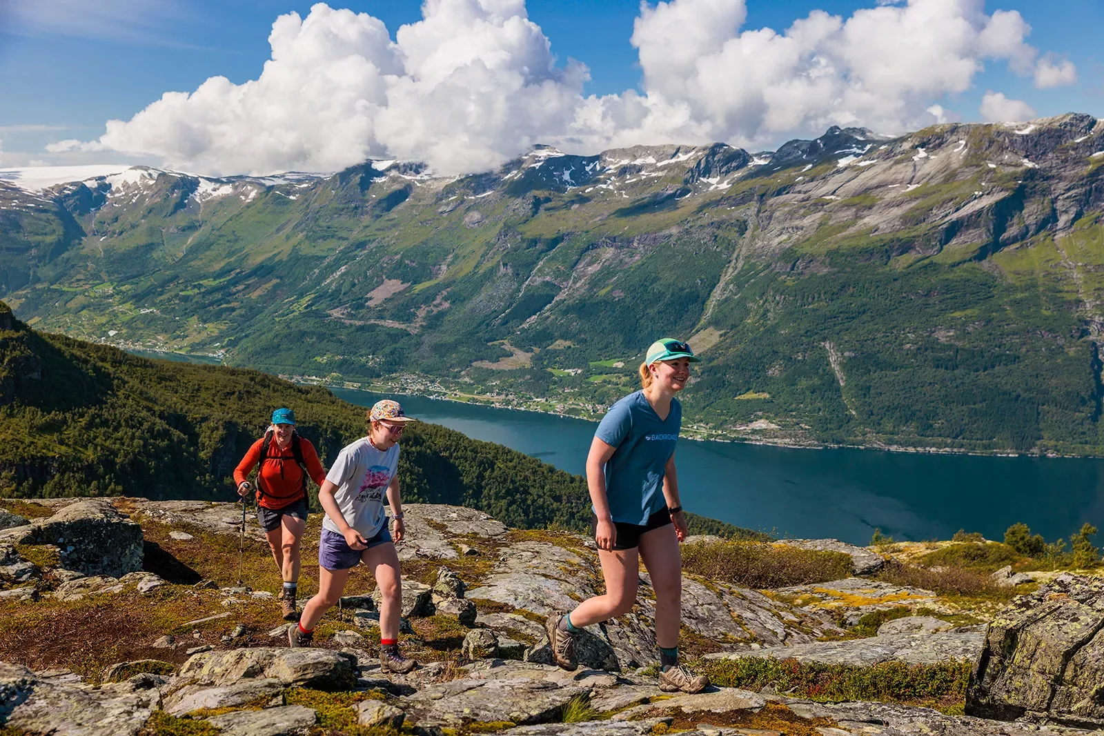
[[[61,566],[85,575],[123,577],[141,569],[141,526],[106,499],[71,503],[53,516],[6,533],[17,535],[11,541],[21,544],[55,545]]]

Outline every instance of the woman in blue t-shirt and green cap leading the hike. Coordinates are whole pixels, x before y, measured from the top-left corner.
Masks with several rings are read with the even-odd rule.
[[[665,338],[651,343],[640,364],[643,388],[614,404],[594,433],[586,482],[606,593],[544,622],[552,657],[565,670],[577,666],[575,633],[633,608],[643,558],[656,594],[660,690],[697,693],[709,684],[679,665],[679,542],[687,536],[687,522],[675,472],[675,444],[682,425],[675,394],[686,388],[690,363],[698,360],[684,342]]]

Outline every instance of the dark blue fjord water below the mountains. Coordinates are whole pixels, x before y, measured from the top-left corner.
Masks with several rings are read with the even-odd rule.
[[[381,396],[335,392],[370,406]],[[595,424],[418,396],[394,396],[407,414],[506,445],[582,473]],[[688,511],[792,537],[868,544],[874,529],[898,540],[949,538],[959,529],[1004,538],[1025,522],[1048,542],[1104,522],[1104,460],[998,458],[852,449],[789,449],[679,440]]]

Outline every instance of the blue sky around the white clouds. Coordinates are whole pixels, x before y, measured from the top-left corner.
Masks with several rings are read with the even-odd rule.
[[[966,0],[963,0],[966,1]],[[56,6],[28,20],[31,4]],[[130,119],[162,93],[192,92],[222,75],[234,84],[256,79],[270,55],[268,34],[277,15],[307,17],[311,3],[275,0],[103,0],[112,12],[97,15],[97,3],[72,0],[0,0],[0,166],[30,160],[60,162],[44,147],[62,139],[89,141],[112,118]],[[382,20],[394,39],[404,23],[422,19],[420,2],[355,0],[331,2]],[[796,19],[824,10],[847,19],[877,0],[747,0],[741,30],[783,32]],[[20,11],[23,8],[23,12]],[[591,74],[583,95],[646,92],[638,52],[629,42],[640,13],[635,1],[529,0],[529,19],[551,41],[558,64],[584,63]],[[1083,111],[1104,117],[1104,28],[1101,0],[988,0],[985,12],[1018,10],[1031,26],[1026,42],[1076,66],[1074,84],[1038,88],[1030,75],[1016,74],[1002,61],[986,61],[969,88],[933,97],[963,120],[981,119],[979,105],[989,90],[1023,100],[1038,115]],[[786,131],[778,131],[785,138]],[[640,141],[650,142],[650,141]],[[374,150],[374,149],[373,149]],[[125,152],[84,153],[84,159],[150,158]],[[77,159],[73,159],[77,160]]]

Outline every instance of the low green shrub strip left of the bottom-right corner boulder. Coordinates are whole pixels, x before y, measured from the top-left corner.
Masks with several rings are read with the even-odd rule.
[[[970,663],[881,662],[869,666],[743,657],[693,664],[714,685],[762,690],[818,702],[880,701],[955,711],[966,700]]]

